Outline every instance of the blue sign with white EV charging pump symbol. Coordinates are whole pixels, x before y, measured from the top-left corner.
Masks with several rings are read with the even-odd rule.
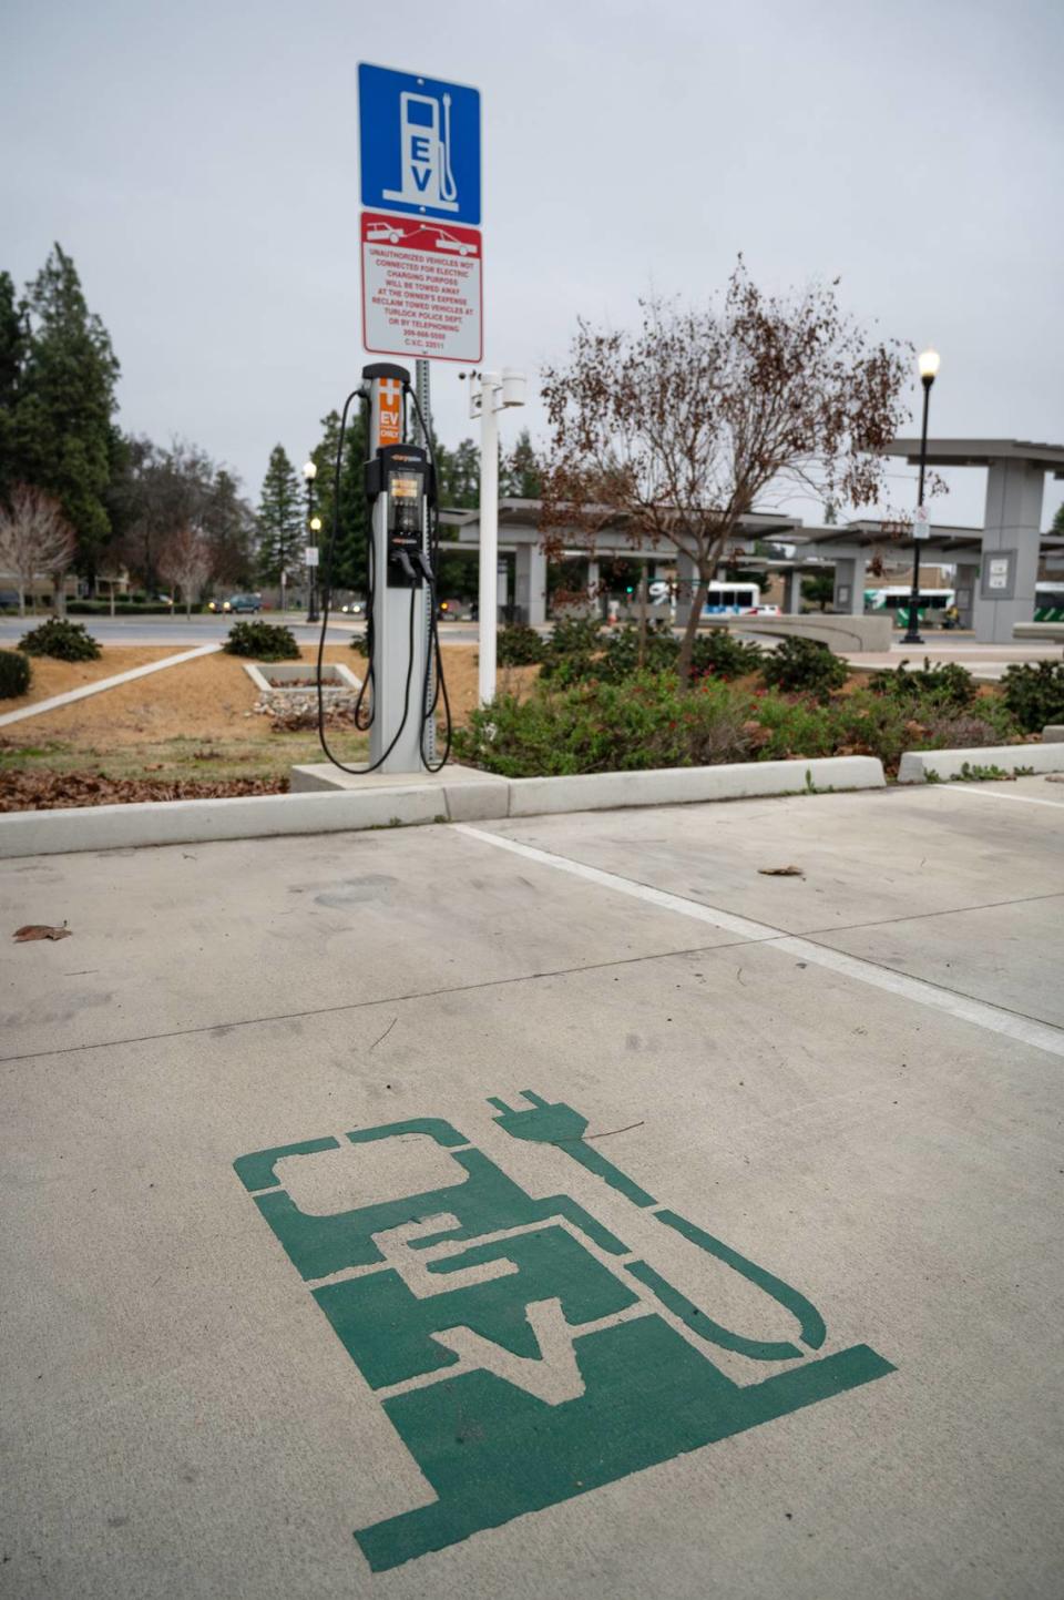
[[[358,67],[362,203],[480,224],[480,90]]]

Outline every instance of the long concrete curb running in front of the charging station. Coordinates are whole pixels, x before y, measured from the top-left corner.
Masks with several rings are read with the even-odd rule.
[[[0,859],[883,787],[883,766],[869,755],[589,773],[579,778],[504,779],[466,771],[461,781],[448,782],[443,776],[430,779],[426,774],[424,782],[394,787],[10,811],[0,816]]]

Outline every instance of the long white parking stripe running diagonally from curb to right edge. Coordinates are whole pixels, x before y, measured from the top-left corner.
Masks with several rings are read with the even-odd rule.
[[[1011,798],[1011,795],[1005,795],[1003,798]],[[1051,800],[1042,803],[1053,805]],[[1032,1045],[1035,1050],[1045,1050],[1053,1056],[1064,1056],[1064,1029],[1053,1027],[1050,1022],[1035,1022],[1032,1018],[1018,1016],[1013,1011],[987,1005],[984,1000],[971,1000],[968,995],[955,994],[952,989],[939,989],[934,984],[923,982],[920,978],[896,973],[890,966],[877,966],[875,962],[866,962],[856,955],[843,955],[842,950],[814,944],[811,939],[786,933],[782,928],[773,928],[770,923],[734,917],[728,910],[717,910],[714,906],[702,906],[699,901],[685,899],[682,894],[654,890],[648,883],[635,883],[632,878],[622,878],[616,872],[603,872],[600,867],[589,867],[582,861],[555,856],[547,850],[538,850],[534,845],[522,845],[520,840],[506,838],[502,834],[488,834],[480,827],[470,827],[467,822],[456,822],[453,826],[458,834],[466,834],[469,838],[475,838],[485,845],[494,845],[496,850],[509,850],[526,861],[536,861],[544,867],[568,872],[571,877],[584,878],[587,883],[613,890],[618,894],[629,894],[632,899],[645,901],[659,910],[670,910],[678,917],[690,917],[693,922],[704,922],[712,928],[736,933],[742,939],[750,939],[750,942],[770,944],[771,949],[808,962],[813,966],[826,966],[843,978],[853,978],[858,982],[870,984],[874,989],[886,989],[890,994],[914,1000],[917,1005],[944,1011],[960,1022],[973,1022],[976,1027],[986,1027],[992,1034],[1003,1034],[1006,1038],[1014,1038],[1021,1045]]]

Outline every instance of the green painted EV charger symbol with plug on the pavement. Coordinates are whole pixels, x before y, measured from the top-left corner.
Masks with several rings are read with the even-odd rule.
[[[586,1117],[528,1090],[523,1098],[528,1110],[490,1101],[504,1133],[554,1144],[634,1206],[658,1206],[584,1139]],[[234,1163],[304,1278],[347,1274],[312,1294],[435,1491],[432,1504],[355,1531],[374,1571],[894,1370],[867,1344],[806,1360],[795,1342],[725,1328],[568,1195],[536,1200],[440,1118],[347,1139],[411,1136],[448,1152],[454,1184],[326,1216],[299,1211],[274,1168],[334,1150],[338,1139]],[[805,1294],[674,1211],[653,1216],[784,1307],[802,1344],[822,1346],[824,1318]],[[802,1365],[739,1384],[702,1342]]]

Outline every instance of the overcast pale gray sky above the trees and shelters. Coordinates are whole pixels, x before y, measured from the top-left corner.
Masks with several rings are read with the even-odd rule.
[[[0,267],[22,282],[61,240],[122,424],[256,498],[365,360],[371,61],[482,90],[485,358],[531,390],[578,314],[698,299],[742,250],[768,288],[842,275],[859,318],[934,344],[933,432],[1059,443],[1062,54],[1059,0],[0,0]],[[472,432],[446,363],[434,411]],[[950,483],[941,520],[981,523],[982,474]],[[1050,480],[1046,522],[1062,498]]]

